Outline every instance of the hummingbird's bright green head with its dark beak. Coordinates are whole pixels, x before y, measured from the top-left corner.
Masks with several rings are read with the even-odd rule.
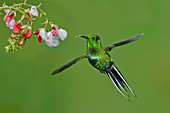
[[[101,40],[98,35],[90,34],[88,36],[80,35],[80,37],[87,39],[87,48],[101,48]]]

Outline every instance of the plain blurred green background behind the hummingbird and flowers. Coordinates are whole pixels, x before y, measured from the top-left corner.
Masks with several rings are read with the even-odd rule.
[[[6,4],[23,0],[0,0]],[[5,53],[11,30],[0,15],[0,112],[22,113],[170,113],[169,0],[28,0],[38,5],[68,38],[55,48],[36,36],[23,50]],[[34,22],[34,29],[42,27]],[[56,76],[50,73],[86,52],[79,34],[95,33],[102,45],[145,33],[110,54],[135,91],[128,102],[111,80],[87,59]],[[129,92],[130,93],[130,92]]]

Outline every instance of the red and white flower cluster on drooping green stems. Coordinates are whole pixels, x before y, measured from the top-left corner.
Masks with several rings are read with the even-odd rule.
[[[25,9],[23,6],[30,7]],[[44,15],[46,21],[44,22],[45,26],[40,28],[37,31],[34,31],[34,34],[37,35],[37,39],[40,43],[45,41],[49,47],[56,47],[59,45],[59,39],[64,40],[67,37],[66,30],[58,28],[57,25],[53,24],[46,16],[46,13],[40,9],[40,5],[33,6],[26,3],[14,4],[12,6],[7,6],[3,4],[3,7],[0,7],[0,10],[4,10],[6,13],[4,21],[6,22],[7,27],[12,29],[13,33],[9,37],[10,45],[6,46],[5,49],[7,52],[14,52],[19,48],[22,48],[27,41],[32,36],[32,24],[39,16]],[[17,13],[21,13],[22,16],[19,20],[16,20]],[[49,31],[49,26],[51,31]],[[47,32],[48,31],[48,32]]]

